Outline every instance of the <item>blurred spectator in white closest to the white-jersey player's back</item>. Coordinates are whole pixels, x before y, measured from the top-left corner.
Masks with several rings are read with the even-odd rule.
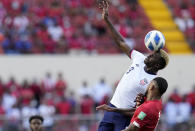
[[[112,94],[112,88],[105,83],[104,78],[100,79],[100,82],[93,87],[92,91],[95,92],[93,99],[96,106],[105,103],[104,98],[110,97]]]

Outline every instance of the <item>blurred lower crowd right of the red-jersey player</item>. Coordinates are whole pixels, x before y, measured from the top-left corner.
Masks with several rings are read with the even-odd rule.
[[[190,131],[195,125],[195,86],[182,95],[178,89],[175,88],[164,105],[165,121],[168,131]]]

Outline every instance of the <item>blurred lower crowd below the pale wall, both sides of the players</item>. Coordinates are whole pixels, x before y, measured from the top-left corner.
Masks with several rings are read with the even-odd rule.
[[[72,129],[71,121],[56,123],[55,116],[59,115],[63,120],[63,116],[70,119],[69,115],[90,116],[101,113],[97,112],[95,107],[109,102],[116,85],[117,83],[108,85],[104,78],[100,78],[93,86],[83,81],[80,87],[73,89],[68,86],[61,73],[56,80],[50,73],[46,73],[43,79],[32,82],[24,80],[19,83],[14,77],[8,82],[0,80],[0,116],[9,120],[6,123],[5,118],[0,117],[0,130],[27,129],[28,118],[35,114],[44,117],[46,131],[54,130],[52,128],[57,128],[55,130],[58,131],[64,128],[68,130],[69,126]],[[195,122],[195,86],[185,95],[180,95],[178,89],[176,88],[165,102],[162,120],[169,131],[190,131],[189,128],[194,125],[191,121]],[[78,123],[76,118],[73,120],[74,124]],[[81,128],[88,129],[89,123],[90,121],[84,121]]]

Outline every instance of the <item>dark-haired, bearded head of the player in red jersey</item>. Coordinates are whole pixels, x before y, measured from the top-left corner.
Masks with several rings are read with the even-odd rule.
[[[159,96],[161,97],[167,90],[168,83],[162,77],[154,78],[147,87],[146,96]]]

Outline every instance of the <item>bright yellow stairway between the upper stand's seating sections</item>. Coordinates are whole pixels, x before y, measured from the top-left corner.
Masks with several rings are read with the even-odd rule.
[[[155,29],[160,30],[166,38],[166,47],[170,53],[191,53],[184,34],[177,28],[171,12],[163,0],[139,0]]]

